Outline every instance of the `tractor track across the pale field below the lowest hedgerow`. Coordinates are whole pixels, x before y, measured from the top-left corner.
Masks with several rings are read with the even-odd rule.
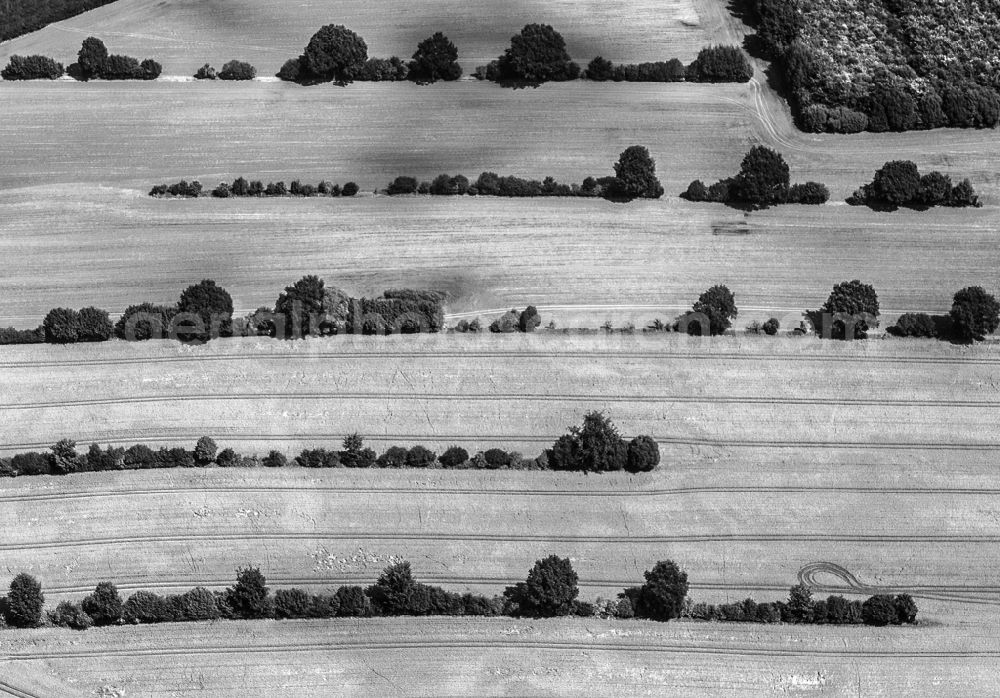
[[[872,650],[872,649],[810,649],[810,648],[763,648],[713,645],[705,643],[664,644],[664,643],[610,643],[610,642],[542,642],[534,640],[476,640],[456,638],[454,640],[420,640],[395,642],[315,642],[315,643],[285,643],[276,645],[177,645],[174,647],[147,647],[113,649],[102,648],[93,650],[69,650],[64,652],[25,652],[10,653],[2,656],[7,661],[88,659],[91,657],[172,657],[184,655],[220,655],[220,654],[282,654],[291,652],[336,652],[336,651],[405,651],[405,650],[467,650],[467,649],[530,649],[566,651],[604,651],[604,652],[668,652],[671,654],[708,654],[723,656],[749,657],[844,657],[844,658],[997,658],[1000,649],[988,650]]]

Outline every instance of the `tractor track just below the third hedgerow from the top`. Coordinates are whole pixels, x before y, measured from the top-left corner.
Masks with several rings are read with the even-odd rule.
[[[38,361],[0,361],[3,369],[71,368],[79,366],[128,366],[164,363],[190,363],[199,361],[303,361],[317,359],[583,359],[595,358],[635,360],[737,360],[737,361],[796,361],[796,362],[869,362],[896,364],[955,364],[962,366],[997,366],[1000,357],[943,357],[943,356],[848,356],[842,354],[782,354],[747,352],[685,352],[685,351],[310,351],[308,353],[270,354],[233,352],[200,356],[146,356],[104,359],[43,359]]]

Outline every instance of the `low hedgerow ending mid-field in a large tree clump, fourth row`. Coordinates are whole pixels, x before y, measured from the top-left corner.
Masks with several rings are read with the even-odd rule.
[[[245,456],[231,448],[219,450],[208,436],[198,440],[193,451],[183,448],[160,448],[154,451],[143,444],[129,448],[92,444],[87,453],[76,450],[76,443],[63,439],[49,453],[32,451],[10,458],[0,458],[0,477],[31,475],[68,475],[107,470],[151,470],[163,468],[444,468],[452,470],[565,470],[609,472],[627,470],[649,472],[660,463],[660,449],[650,436],[626,441],[617,428],[600,412],[588,413],[581,427],[569,433],[537,458],[525,458],[516,451],[491,448],[469,454],[461,446],[451,446],[438,455],[424,446],[391,446],[381,455],[366,448],[364,439],[351,434],[341,450],[306,449],[291,461],[280,451],[263,458]]]

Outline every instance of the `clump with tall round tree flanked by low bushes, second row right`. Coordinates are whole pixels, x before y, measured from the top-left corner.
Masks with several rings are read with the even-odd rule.
[[[759,145],[746,154],[735,177],[720,180],[709,187],[696,179],[681,194],[681,198],[756,210],[779,204],[824,204],[829,200],[830,192],[826,185],[819,182],[791,184],[784,157]]]

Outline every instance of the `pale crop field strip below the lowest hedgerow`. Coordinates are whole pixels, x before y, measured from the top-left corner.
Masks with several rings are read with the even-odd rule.
[[[995,634],[640,621],[376,619],[5,633],[83,693],[954,695],[996,691]],[[98,693],[98,695],[107,695]]]

